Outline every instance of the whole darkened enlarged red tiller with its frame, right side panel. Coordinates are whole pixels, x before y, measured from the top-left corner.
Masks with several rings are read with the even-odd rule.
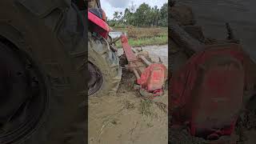
[[[194,137],[230,136],[242,108],[254,97],[255,64],[226,24],[226,40],[205,38],[189,6],[170,2],[171,128]],[[221,142],[226,143],[226,142]]]

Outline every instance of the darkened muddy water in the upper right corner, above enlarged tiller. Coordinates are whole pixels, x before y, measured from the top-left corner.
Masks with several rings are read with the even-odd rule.
[[[235,36],[256,62],[255,0],[179,0],[191,6],[206,36],[226,38],[225,22],[230,22]]]

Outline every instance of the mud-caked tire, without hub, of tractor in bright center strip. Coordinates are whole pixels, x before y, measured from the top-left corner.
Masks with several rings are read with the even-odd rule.
[[[102,74],[102,85],[96,92],[88,91],[89,96],[115,95],[122,78],[118,54],[110,50],[109,43],[104,38],[96,38],[88,34],[88,61]]]

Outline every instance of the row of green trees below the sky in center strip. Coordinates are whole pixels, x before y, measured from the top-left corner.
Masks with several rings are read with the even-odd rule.
[[[113,18],[107,18],[110,26],[168,26],[168,4],[165,3],[161,8],[149,6],[145,2],[138,6],[132,4],[126,8],[124,13],[115,11]]]

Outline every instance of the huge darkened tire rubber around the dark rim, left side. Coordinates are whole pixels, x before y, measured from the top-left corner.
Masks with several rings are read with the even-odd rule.
[[[11,43],[38,66],[48,98],[46,110],[34,130],[11,139],[8,144],[88,142],[84,105],[87,43],[82,35],[68,29],[72,22],[77,22],[74,18],[78,14],[70,1],[3,0],[0,11],[1,41]],[[1,138],[0,143],[6,144]]]

